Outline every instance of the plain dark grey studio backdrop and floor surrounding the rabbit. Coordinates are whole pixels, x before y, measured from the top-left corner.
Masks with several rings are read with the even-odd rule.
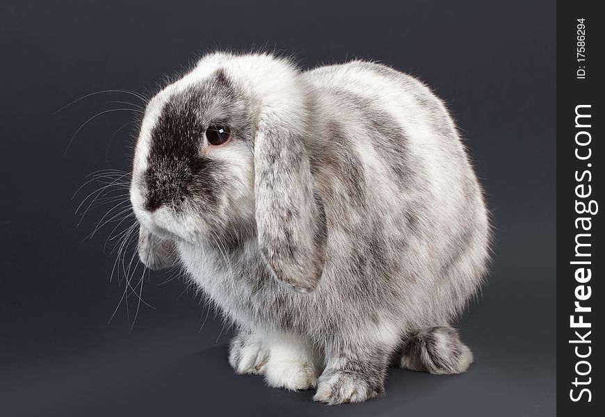
[[[327,407],[236,376],[229,330],[179,279],[145,278],[136,324],[124,283],[71,197],[96,170],[129,169],[135,113],[215,47],[268,47],[303,65],[360,57],[410,72],[458,122],[494,216],[494,265],[458,326],[462,375],[392,369],[387,396]],[[554,416],[554,1],[6,1],[0,6],[0,414],[3,416]],[[130,129],[130,130],[129,130]],[[115,224],[115,223],[114,223]],[[121,226],[128,225],[125,221]],[[207,320],[204,320],[204,318]],[[129,322],[130,320],[130,322]],[[205,322],[204,322],[205,321]],[[203,325],[202,325],[203,323]],[[132,330],[130,331],[132,327]]]

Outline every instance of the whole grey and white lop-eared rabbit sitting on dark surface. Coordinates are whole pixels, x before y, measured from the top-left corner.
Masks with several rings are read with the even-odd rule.
[[[473,361],[451,322],[486,275],[489,216],[412,76],[207,54],[148,102],[130,199],[140,260],[180,265],[224,313],[237,374],[341,404],[383,395],[392,364]]]

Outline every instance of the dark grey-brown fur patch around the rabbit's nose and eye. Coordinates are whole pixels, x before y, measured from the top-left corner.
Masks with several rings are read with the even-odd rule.
[[[145,208],[186,207],[202,211],[212,223],[221,196],[227,193],[229,172],[223,163],[202,154],[204,132],[209,124],[226,124],[232,140],[250,142],[253,126],[248,108],[248,99],[223,70],[174,93],[151,132],[149,167],[143,174]],[[217,222],[223,225],[224,220]]]

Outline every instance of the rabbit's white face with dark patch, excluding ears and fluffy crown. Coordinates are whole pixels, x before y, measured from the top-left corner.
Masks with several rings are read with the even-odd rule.
[[[254,216],[250,99],[222,70],[193,72],[148,104],[131,202],[141,226],[171,240],[222,238]],[[245,229],[245,227],[243,228]]]

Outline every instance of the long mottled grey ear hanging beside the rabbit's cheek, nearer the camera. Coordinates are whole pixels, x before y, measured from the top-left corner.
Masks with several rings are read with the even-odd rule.
[[[323,271],[325,214],[299,133],[261,117],[255,139],[255,202],[261,253],[279,281],[313,290]]]

